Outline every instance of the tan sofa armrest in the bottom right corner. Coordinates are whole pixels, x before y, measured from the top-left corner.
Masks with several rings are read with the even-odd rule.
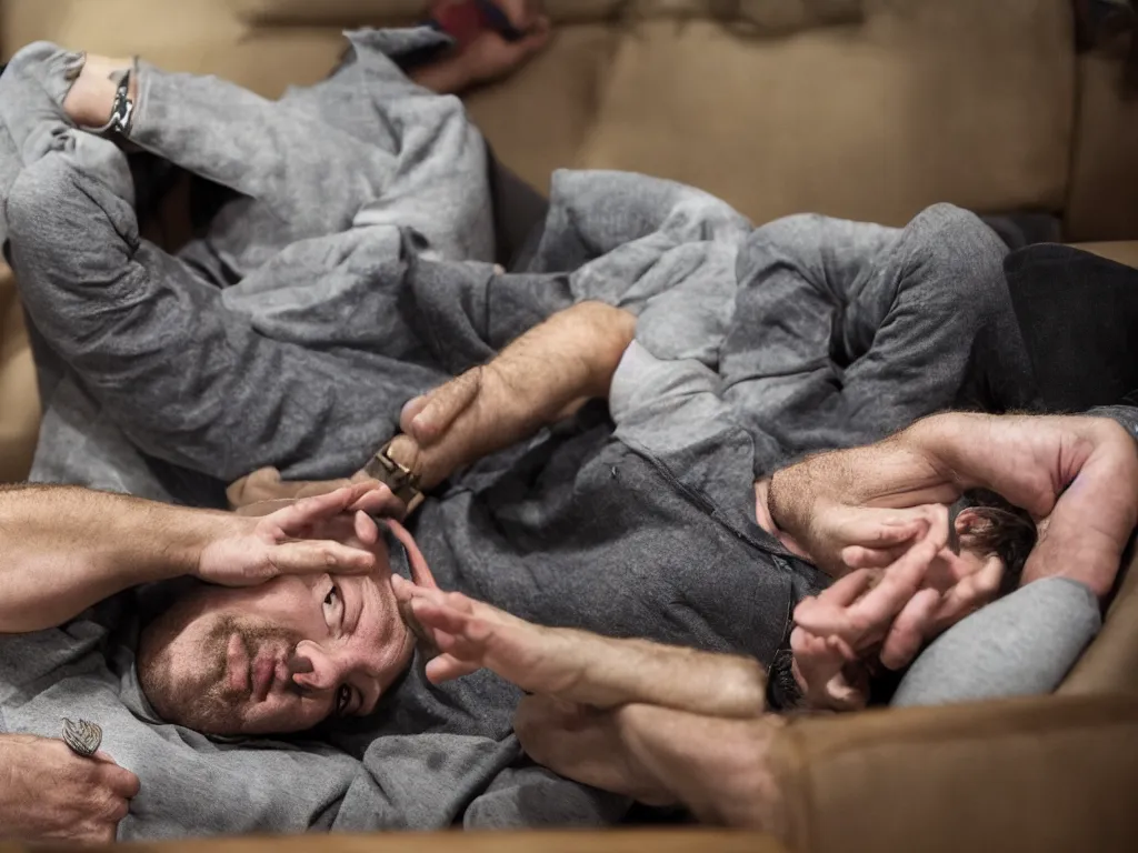
[[[793,850],[1138,850],[1138,695],[801,718],[772,757]]]

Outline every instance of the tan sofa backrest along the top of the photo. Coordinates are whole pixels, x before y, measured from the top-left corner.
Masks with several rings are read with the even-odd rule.
[[[36,38],[142,52],[274,96],[318,80],[339,31],[423,0],[0,0],[3,52]],[[648,172],[756,221],[900,223],[934,201],[1059,212],[1075,105],[1070,0],[546,0],[552,48],[469,98],[539,189],[562,166]],[[1094,235],[1088,235],[1092,238]]]

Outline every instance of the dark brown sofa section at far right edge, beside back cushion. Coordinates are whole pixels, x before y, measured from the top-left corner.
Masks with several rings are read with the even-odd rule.
[[[1120,50],[1079,59],[1079,115],[1065,231],[1070,240],[1138,238],[1138,92]]]

